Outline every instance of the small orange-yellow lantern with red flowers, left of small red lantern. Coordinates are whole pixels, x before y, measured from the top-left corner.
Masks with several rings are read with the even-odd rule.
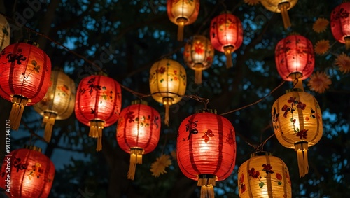
[[[202,70],[209,68],[214,59],[214,48],[205,36],[193,36],[185,45],[183,59],[190,69],[195,70],[195,83],[202,83]]]

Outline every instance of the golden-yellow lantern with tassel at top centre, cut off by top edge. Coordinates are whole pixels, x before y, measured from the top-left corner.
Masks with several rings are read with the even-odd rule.
[[[193,24],[200,11],[200,0],[167,0],[169,20],[179,26],[177,40],[183,41],[183,27]]]

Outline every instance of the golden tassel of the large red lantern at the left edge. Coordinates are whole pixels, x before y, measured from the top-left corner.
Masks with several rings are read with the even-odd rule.
[[[12,98],[12,108],[8,119],[11,121],[11,128],[13,130],[18,130],[20,127],[21,118],[25,106],[27,105],[27,101],[28,99],[26,97],[18,95],[13,96]]]

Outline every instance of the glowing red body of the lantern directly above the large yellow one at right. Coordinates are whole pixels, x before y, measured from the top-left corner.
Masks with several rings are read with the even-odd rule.
[[[277,43],[275,51],[277,71],[283,80],[293,81],[292,73],[301,73],[299,80],[311,76],[314,71],[314,48],[304,36],[290,35]]]

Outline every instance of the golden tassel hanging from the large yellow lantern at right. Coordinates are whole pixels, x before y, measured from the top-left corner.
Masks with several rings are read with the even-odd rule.
[[[297,152],[297,166],[299,167],[299,176],[303,177],[309,173],[309,162],[307,160],[307,142],[295,143],[295,151]]]

